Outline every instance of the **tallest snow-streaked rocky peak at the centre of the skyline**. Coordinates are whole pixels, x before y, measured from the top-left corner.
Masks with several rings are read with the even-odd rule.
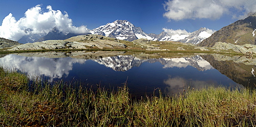
[[[127,20],[116,20],[114,22],[107,23],[93,29],[91,33],[127,41],[133,41],[140,38],[149,40],[153,39],[144,33],[140,27],[135,27]]]

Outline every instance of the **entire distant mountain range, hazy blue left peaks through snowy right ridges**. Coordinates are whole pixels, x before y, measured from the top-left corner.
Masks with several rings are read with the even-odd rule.
[[[62,33],[56,27],[49,33],[31,34],[31,31],[32,30],[29,28],[26,29],[25,33],[27,33],[27,35],[19,39],[18,42],[31,43],[45,40],[64,40],[77,35],[96,34],[127,41],[144,38],[154,41],[180,41],[183,43],[198,44],[214,32],[206,28],[201,28],[192,33],[170,34],[163,31],[159,35],[153,33],[147,34],[140,27],[135,27],[134,24],[127,20],[116,20],[114,22],[107,23],[93,30],[88,30],[90,33]]]

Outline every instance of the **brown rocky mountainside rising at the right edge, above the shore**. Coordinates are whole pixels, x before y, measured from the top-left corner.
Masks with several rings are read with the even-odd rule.
[[[256,14],[238,20],[203,40],[199,46],[212,47],[216,42],[226,42],[235,45],[256,44]]]

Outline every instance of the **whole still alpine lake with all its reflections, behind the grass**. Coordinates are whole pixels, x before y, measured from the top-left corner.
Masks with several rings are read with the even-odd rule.
[[[32,80],[97,89],[129,88],[132,97],[177,95],[207,86],[254,88],[256,58],[223,54],[74,51],[2,54],[0,65]]]

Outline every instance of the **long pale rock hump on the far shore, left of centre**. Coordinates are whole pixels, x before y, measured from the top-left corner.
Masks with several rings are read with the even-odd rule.
[[[76,41],[74,41],[76,40]],[[79,41],[77,41],[79,40]],[[117,41],[117,42],[116,42]],[[42,42],[26,43],[18,45],[11,49],[13,50],[42,50],[42,49],[87,49],[87,48],[114,48],[122,47],[126,45],[118,42],[118,40],[105,40],[99,35],[80,35],[67,40],[47,40]]]

